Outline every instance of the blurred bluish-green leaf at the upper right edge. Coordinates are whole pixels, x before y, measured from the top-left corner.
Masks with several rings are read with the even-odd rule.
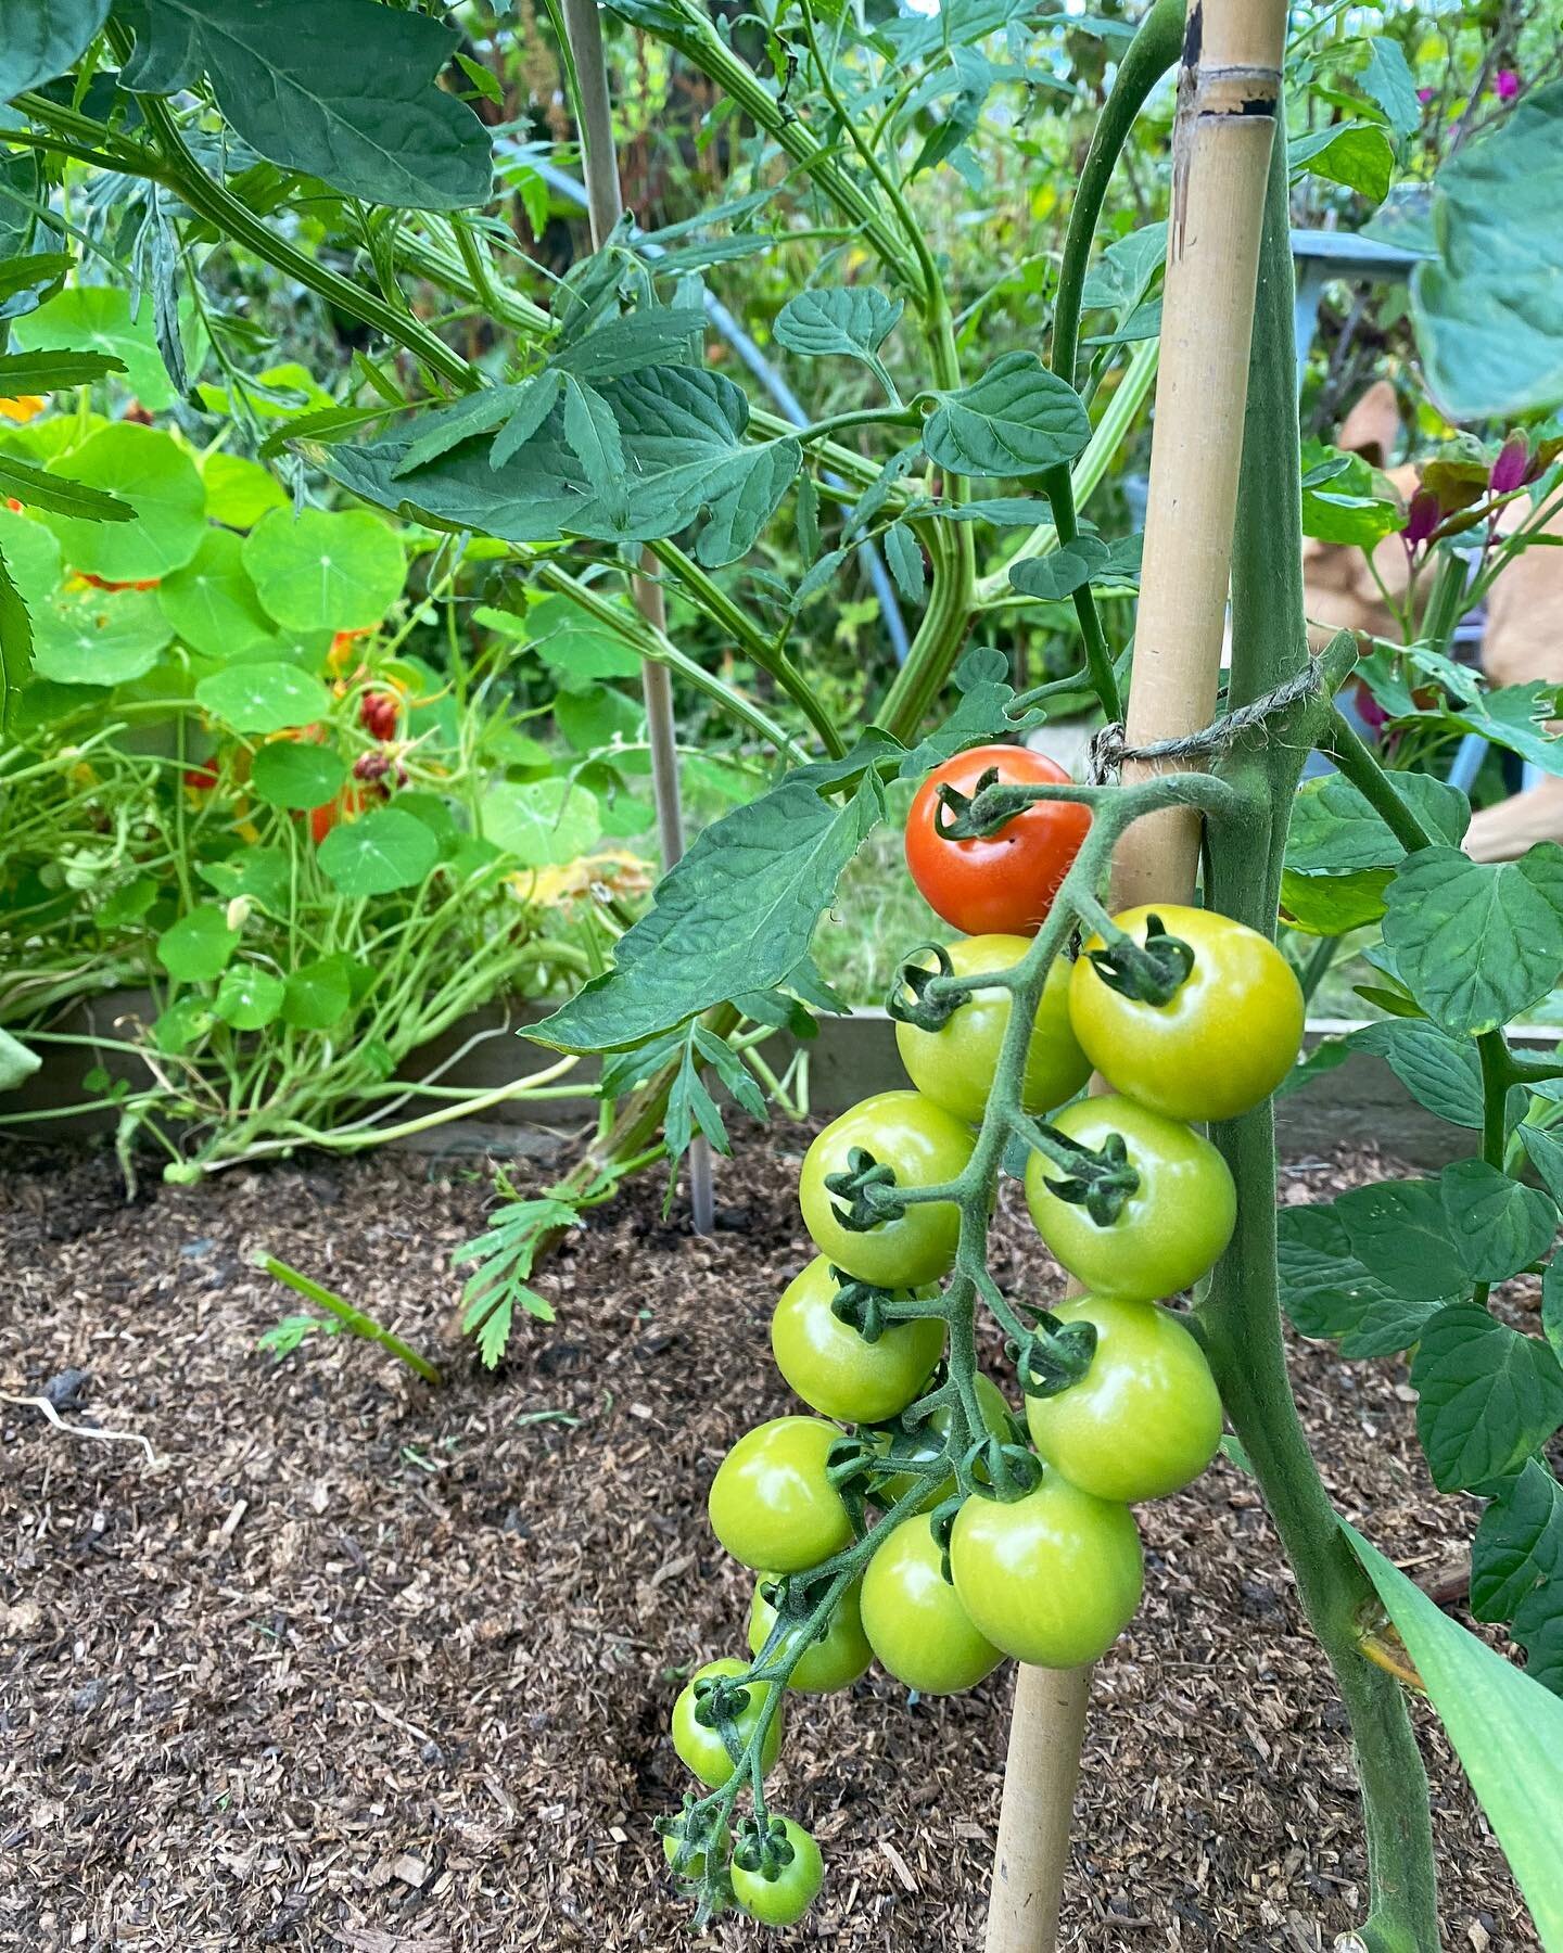
[[[1411,275],[1411,316],[1452,420],[1512,420],[1563,400],[1563,82],[1434,176],[1436,258]]]

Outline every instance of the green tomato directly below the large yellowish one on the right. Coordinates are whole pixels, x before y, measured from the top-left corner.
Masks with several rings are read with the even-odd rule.
[[[1227,1162],[1204,1135],[1125,1098],[1067,1105],[1053,1127],[1084,1146],[1121,1133],[1139,1187],[1108,1226],[1061,1201],[1053,1180],[1069,1178],[1039,1152],[1026,1166],[1026,1205],[1037,1234],[1092,1295],[1155,1303],[1207,1273],[1237,1225]]]

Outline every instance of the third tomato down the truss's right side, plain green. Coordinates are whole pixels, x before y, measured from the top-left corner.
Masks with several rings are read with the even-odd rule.
[[[1028,1396],[1037,1453],[1094,1498],[1133,1506],[1180,1492],[1221,1443],[1221,1394],[1205,1351],[1155,1303],[1082,1295],[1061,1322],[1092,1322],[1090,1369],[1057,1396]]]

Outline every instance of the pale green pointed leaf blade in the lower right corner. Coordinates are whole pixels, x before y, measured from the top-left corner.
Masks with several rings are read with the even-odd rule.
[[[1350,1525],[1344,1531],[1497,1832],[1542,1945],[1563,1945],[1563,1703],[1452,1621]]]

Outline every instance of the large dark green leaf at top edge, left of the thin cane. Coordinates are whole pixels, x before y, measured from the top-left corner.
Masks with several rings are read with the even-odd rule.
[[[488,135],[436,86],[459,35],[375,0],[137,0],[125,86],[170,94],[205,68],[268,162],[393,209],[488,199]]]

